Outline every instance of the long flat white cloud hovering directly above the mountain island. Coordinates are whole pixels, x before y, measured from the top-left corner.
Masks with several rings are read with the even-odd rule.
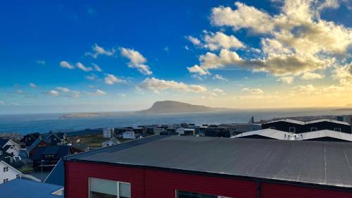
[[[204,93],[207,89],[203,85],[187,85],[184,82],[176,82],[174,80],[160,80],[157,78],[146,78],[138,85],[139,89],[149,89],[158,93],[160,90],[171,89],[183,92]]]

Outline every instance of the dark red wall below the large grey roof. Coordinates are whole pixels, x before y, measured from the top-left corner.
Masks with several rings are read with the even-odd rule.
[[[175,198],[175,190],[215,194],[234,198],[257,198],[257,184],[249,180],[216,178],[155,171],[142,168],[78,163],[67,161],[65,166],[68,198],[88,197],[88,178],[104,178],[130,182],[132,198]],[[320,190],[308,187],[262,183],[263,198],[345,198],[352,193]]]

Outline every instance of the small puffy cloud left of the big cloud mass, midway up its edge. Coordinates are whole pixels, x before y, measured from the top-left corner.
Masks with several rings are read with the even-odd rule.
[[[206,32],[204,37],[204,46],[212,51],[218,49],[239,49],[244,48],[244,44],[239,41],[234,35],[225,35],[222,32]]]

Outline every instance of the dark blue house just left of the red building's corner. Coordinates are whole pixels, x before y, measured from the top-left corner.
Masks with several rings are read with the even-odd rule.
[[[32,157],[33,168],[44,168],[45,170],[52,170],[56,163],[63,158],[63,156],[70,155],[69,146],[49,146],[38,147],[37,151]]]

